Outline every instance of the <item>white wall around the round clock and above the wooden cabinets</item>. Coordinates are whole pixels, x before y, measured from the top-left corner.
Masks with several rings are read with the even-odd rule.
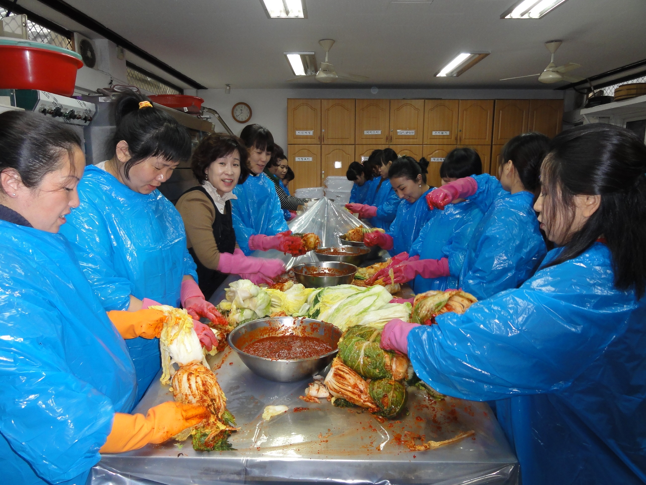
[[[231,116],[231,108],[238,102],[251,106],[251,120],[266,126],[276,143],[287,147],[287,98],[444,98],[452,100],[493,100],[493,99],[561,99],[563,91],[552,89],[379,89],[372,94],[370,89],[205,89],[185,90],[185,94],[196,94],[204,99],[204,105],[220,113],[233,133],[240,134],[243,124]],[[217,120],[211,120],[220,130]],[[222,129],[224,131],[224,129]]]

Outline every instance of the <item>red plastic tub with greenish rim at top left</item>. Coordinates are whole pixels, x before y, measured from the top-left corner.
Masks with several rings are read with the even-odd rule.
[[[40,42],[0,38],[0,89],[39,89],[72,96],[81,56]]]

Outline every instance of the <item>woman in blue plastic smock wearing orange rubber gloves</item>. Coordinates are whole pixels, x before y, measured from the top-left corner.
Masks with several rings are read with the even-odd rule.
[[[84,485],[99,451],[160,443],[208,415],[175,402],[128,414],[136,378],[123,339],[151,338],[164,316],[108,316],[57,234],[79,204],[80,144],[40,114],[0,114],[0,470],[8,484]]]

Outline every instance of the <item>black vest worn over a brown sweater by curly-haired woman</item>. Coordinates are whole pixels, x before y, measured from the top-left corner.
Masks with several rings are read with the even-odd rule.
[[[224,204],[225,214],[221,214],[218,208],[213,202],[213,198],[203,187],[193,187],[185,191],[184,193],[189,193],[194,190],[199,190],[211,200],[213,208],[215,210],[215,221],[213,221],[213,237],[215,243],[218,245],[218,250],[220,253],[231,253],[233,254],[236,248],[236,233],[233,230],[233,219],[231,218],[231,200],[227,200]],[[183,194],[182,194],[183,195]],[[228,274],[220,273],[217,270],[211,270],[207,268],[200,262],[198,257],[195,254],[193,248],[189,248],[189,253],[193,256],[193,261],[197,264],[197,274],[198,281],[200,285],[200,290],[204,294],[207,301],[215,290],[218,289],[218,286],[222,285],[222,282],[227,278]]]

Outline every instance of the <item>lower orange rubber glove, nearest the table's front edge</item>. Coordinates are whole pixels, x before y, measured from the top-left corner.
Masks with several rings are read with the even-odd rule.
[[[204,406],[167,401],[148,410],[144,415],[114,413],[112,431],[101,453],[122,453],[139,449],[149,443],[163,443],[187,427],[195,426],[211,413]]]

